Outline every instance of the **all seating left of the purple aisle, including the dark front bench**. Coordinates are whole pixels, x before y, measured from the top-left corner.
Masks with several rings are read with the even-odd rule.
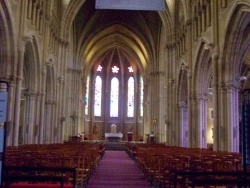
[[[104,151],[101,143],[8,147],[4,182],[9,185],[11,182],[23,182],[33,178],[33,182],[60,182],[61,185],[71,183],[84,187],[98,166]]]

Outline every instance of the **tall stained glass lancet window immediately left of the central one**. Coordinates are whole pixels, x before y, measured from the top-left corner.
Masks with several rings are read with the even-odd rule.
[[[95,79],[95,104],[94,104],[94,115],[101,116],[102,107],[102,79],[97,76]]]

